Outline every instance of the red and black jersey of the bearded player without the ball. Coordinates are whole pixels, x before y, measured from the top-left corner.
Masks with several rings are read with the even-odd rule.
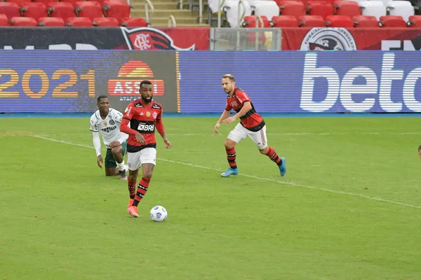
[[[234,93],[232,94],[232,97],[227,97],[227,106],[225,106],[225,110],[231,111],[234,109],[234,111],[238,113],[241,108],[243,108],[244,102],[250,102],[251,109],[240,117],[241,125],[253,132],[261,130],[262,127],[265,126],[265,120],[263,120],[262,116],[260,116],[255,111],[253,103],[251,102],[251,99],[248,97],[246,92],[243,92],[243,90],[239,89],[238,87],[234,87]]]

